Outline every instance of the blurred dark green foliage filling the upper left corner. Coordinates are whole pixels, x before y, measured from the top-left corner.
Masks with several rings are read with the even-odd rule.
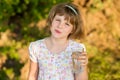
[[[29,27],[30,23],[36,24],[47,17],[51,7],[60,2],[71,0],[1,0],[0,1],[0,32],[10,29],[17,40],[25,39],[29,42],[48,36],[46,30],[39,30],[36,26]]]

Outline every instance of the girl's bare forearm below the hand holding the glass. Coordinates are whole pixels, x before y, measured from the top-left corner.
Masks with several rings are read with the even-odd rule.
[[[83,72],[75,74],[75,80],[88,80],[87,66],[82,67],[84,67]]]

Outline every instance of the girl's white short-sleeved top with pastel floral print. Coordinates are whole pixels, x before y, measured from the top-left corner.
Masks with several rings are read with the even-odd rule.
[[[38,80],[74,80],[71,54],[85,50],[85,46],[69,40],[67,48],[55,54],[47,49],[44,40],[31,42],[29,46],[30,59],[39,64]]]

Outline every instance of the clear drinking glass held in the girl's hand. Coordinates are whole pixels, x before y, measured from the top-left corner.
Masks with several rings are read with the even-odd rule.
[[[83,51],[84,48],[81,50],[76,50],[72,53],[73,73],[80,73],[83,71],[80,61],[77,60],[77,58],[81,55],[81,52]]]

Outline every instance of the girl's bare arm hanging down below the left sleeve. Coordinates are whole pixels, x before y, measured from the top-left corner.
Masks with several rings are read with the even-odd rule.
[[[28,80],[37,80],[37,77],[38,77],[38,63],[35,63],[30,60]]]

